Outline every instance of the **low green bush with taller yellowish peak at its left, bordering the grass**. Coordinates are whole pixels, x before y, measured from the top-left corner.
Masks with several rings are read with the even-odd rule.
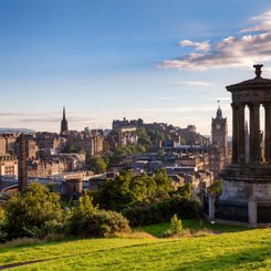
[[[107,237],[129,231],[128,221],[122,213],[100,210],[84,195],[72,210],[67,233],[83,237]]]

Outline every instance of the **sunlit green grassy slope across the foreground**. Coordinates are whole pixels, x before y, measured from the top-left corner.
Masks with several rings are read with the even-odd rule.
[[[138,234],[137,234],[138,236]],[[0,247],[0,270],[271,270],[271,229]]]

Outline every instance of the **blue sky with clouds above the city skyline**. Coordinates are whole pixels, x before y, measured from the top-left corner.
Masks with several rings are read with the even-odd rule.
[[[0,127],[143,118],[208,135],[226,86],[271,77],[270,0],[1,0]]]

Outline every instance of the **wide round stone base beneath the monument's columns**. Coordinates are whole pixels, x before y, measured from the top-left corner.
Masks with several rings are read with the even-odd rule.
[[[231,164],[220,176],[222,194],[215,204],[216,219],[251,227],[271,223],[271,165]]]

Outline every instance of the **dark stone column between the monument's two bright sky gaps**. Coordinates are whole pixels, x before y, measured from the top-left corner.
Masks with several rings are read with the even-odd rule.
[[[250,110],[250,160],[260,161],[260,104],[249,104]]]

